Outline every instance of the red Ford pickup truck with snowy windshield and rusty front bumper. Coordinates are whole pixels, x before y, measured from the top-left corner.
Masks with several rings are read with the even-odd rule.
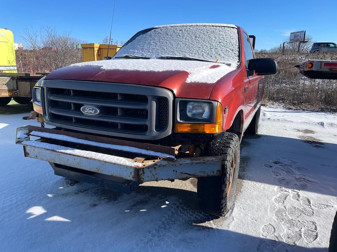
[[[34,110],[55,128],[20,127],[16,141],[56,175],[124,193],[145,181],[197,177],[201,208],[224,216],[240,140],[258,130],[263,75],[277,69],[274,59],[255,58],[235,25],[145,29],[111,60],[42,78]]]

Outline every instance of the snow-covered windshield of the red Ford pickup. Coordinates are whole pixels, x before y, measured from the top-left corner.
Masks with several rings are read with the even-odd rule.
[[[134,35],[114,56],[202,59],[230,64],[239,62],[237,28],[223,26],[175,26],[152,28]]]

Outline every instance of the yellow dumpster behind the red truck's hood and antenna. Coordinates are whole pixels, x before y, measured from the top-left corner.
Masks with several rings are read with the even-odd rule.
[[[82,44],[82,61],[102,60],[108,53],[108,46],[104,44]],[[121,48],[121,45],[109,46],[109,57],[113,57]]]

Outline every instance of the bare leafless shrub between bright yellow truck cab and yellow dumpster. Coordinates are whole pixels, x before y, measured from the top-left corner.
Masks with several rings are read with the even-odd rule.
[[[82,52],[76,48],[81,44],[79,39],[72,38],[70,32],[58,33],[55,28],[42,27],[40,32],[33,28],[25,29],[25,36],[21,37],[25,41],[26,48],[31,50],[26,54],[19,54],[19,62],[30,62],[31,71],[51,72],[55,69],[68,66],[70,64],[82,61]],[[23,56],[30,59],[20,58]],[[22,67],[24,68],[24,67]]]

